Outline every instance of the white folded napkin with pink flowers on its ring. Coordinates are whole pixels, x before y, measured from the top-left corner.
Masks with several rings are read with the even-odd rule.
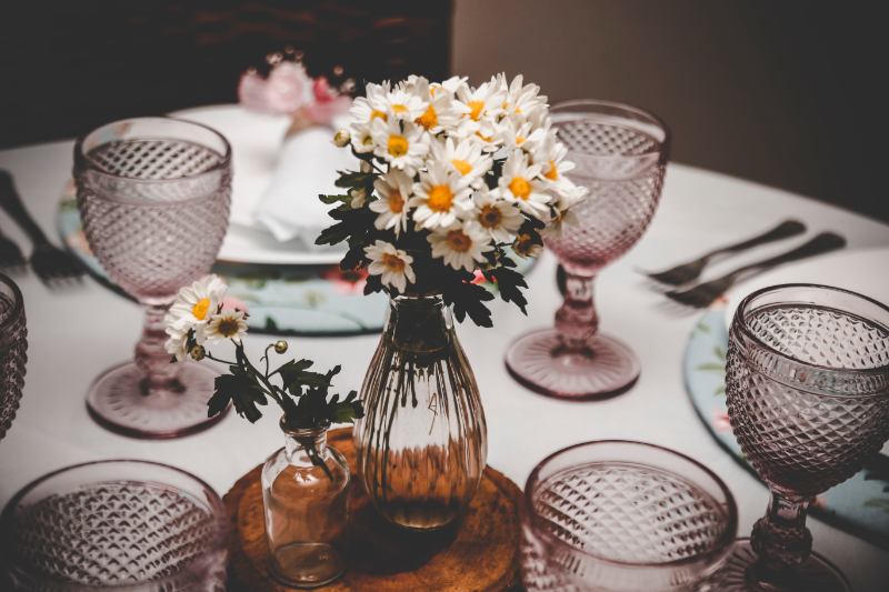
[[[306,248],[313,250],[314,239],[333,223],[319,194],[343,194],[334,185],[337,171],[359,168],[348,148],[331,142],[334,130],[312,127],[284,138],[274,178],[254,211],[257,222],[279,241],[299,237]]]

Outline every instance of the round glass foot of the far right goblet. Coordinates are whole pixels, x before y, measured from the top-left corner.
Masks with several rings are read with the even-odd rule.
[[[738,539],[735,553],[722,570],[722,581],[718,590],[720,592],[852,592],[852,586],[842,572],[818,553],[812,553],[799,570],[785,574],[786,578],[763,582],[752,581],[752,578],[756,578],[753,563],[757,559],[759,558],[750,548],[750,539]]]

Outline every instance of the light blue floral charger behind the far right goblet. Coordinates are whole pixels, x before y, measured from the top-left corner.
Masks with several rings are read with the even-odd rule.
[[[710,433],[722,448],[755,472],[731,433],[726,411],[726,351],[729,335],[725,314],[725,311],[708,311],[692,331],[682,362],[686,387]],[[882,549],[889,549],[889,458],[879,454],[861,472],[818,495],[812,501],[811,513]]]

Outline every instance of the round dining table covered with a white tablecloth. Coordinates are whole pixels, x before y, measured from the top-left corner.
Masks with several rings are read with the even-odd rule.
[[[56,215],[60,192],[71,178],[72,153],[73,140],[0,151],[0,169],[12,174],[27,208],[60,244]],[[470,321],[457,328],[481,393],[488,464],[521,488],[541,460],[580,442],[632,440],[666,446],[699,461],[726,482],[738,504],[738,533],[747,536],[766,510],[768,490],[720,448],[686,391],[682,355],[701,312],[670,303],[642,272],[696,259],[787,219],[805,222],[810,233],[843,235],[849,251],[889,247],[889,225],[878,220],[781,189],[670,163],[649,229],[597,278],[600,330],[629,344],[642,368],[632,388],[605,400],[543,397],[517,383],[503,362],[511,341],[551,325],[561,304],[558,261],[545,251],[527,277],[527,315],[498,299],[489,303],[493,328]],[[0,228],[23,251],[30,249],[27,235],[3,212]],[[766,257],[770,249],[780,252],[787,247],[768,247],[757,257]],[[732,269],[743,258],[722,263],[722,269]],[[886,269],[872,273],[886,274]],[[720,274],[719,269],[708,273]],[[142,323],[139,305],[90,275],[60,284],[43,283],[30,270],[19,270],[12,278],[23,294],[28,363],[21,407],[0,441],[0,506],[43,474],[108,459],[170,464],[204,480],[221,495],[283,445],[279,414],[272,408],[263,408],[264,415],[253,424],[230,412],[206,431],[172,440],[139,440],[100,427],[88,413],[84,394],[97,375],[132,355]],[[244,339],[248,355],[258,360],[278,339],[289,343],[287,354],[278,357],[280,362],[293,357],[314,360],[319,369],[340,364],[333,392],[348,392],[360,390],[380,338],[280,338],[251,331]],[[889,589],[889,549],[815,516],[808,526],[815,551],[836,563],[855,590]]]

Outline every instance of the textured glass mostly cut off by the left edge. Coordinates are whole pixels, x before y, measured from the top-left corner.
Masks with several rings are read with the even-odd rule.
[[[19,409],[28,361],[24,303],[16,282],[0,274],[0,440]]]

